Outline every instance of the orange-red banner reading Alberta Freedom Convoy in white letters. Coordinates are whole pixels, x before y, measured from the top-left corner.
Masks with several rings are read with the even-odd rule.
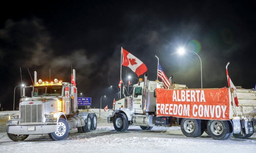
[[[156,89],[157,116],[229,120],[229,91],[220,89]]]

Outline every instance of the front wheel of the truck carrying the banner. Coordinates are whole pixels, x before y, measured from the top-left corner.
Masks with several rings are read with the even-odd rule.
[[[118,113],[115,117],[114,117],[114,128],[118,131],[118,132],[124,132],[128,129],[129,127],[129,121],[128,118],[125,114],[123,113]]]

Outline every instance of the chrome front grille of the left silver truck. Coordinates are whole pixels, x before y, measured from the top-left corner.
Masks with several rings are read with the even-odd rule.
[[[20,123],[41,123],[42,105],[20,105]]]

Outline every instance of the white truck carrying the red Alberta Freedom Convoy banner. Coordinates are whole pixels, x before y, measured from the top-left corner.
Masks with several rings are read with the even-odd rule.
[[[187,137],[200,137],[206,132],[216,140],[248,138],[256,131],[256,91],[237,87],[239,104],[232,88],[188,89],[186,85],[139,79],[131,96],[118,99],[108,110],[108,123],[123,132],[129,125],[142,130],[153,126],[181,126]]]

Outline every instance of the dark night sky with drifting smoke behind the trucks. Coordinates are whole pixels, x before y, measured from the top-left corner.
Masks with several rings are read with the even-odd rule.
[[[32,84],[27,68],[38,79],[71,80],[76,69],[78,92],[92,97],[92,106],[112,108],[120,78],[121,47],[157,77],[157,55],[167,75],[189,88],[227,86],[225,66],[235,86],[256,84],[255,1],[33,1],[1,2],[1,106],[11,110],[13,89]],[[129,68],[125,75],[136,77]],[[32,74],[33,75],[33,74]],[[140,76],[142,77],[142,76]],[[132,80],[136,82],[135,79]],[[30,95],[30,93],[27,93]],[[20,89],[16,90],[18,105]]]

